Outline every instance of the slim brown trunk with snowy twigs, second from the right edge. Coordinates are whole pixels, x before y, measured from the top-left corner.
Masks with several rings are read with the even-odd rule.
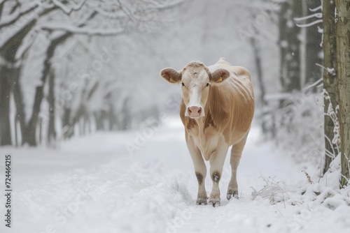
[[[325,166],[323,174],[328,171],[332,158],[337,156],[337,144],[333,143],[337,122],[335,107],[338,105],[337,94],[337,45],[335,38],[335,2],[323,1],[323,88],[324,98],[324,133],[325,133]]]

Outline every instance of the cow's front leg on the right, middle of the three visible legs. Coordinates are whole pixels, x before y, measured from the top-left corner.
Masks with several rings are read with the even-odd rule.
[[[211,189],[209,203],[215,206],[220,206],[220,189],[219,181],[223,174],[223,164],[225,163],[226,154],[228,153],[228,144],[221,143],[211,158],[210,163],[210,176],[213,181],[213,188]]]

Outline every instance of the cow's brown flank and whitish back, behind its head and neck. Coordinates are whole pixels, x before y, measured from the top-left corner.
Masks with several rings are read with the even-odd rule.
[[[214,72],[218,68],[230,71],[225,83],[211,87],[208,107],[216,127],[225,136],[228,144],[236,144],[248,133],[254,114],[254,93],[251,75],[246,68],[232,66],[220,59],[208,67]]]

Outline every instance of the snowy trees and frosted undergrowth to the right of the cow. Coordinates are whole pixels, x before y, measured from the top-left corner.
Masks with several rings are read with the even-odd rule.
[[[342,153],[342,185],[349,179],[349,1],[263,1],[276,4],[275,12],[266,7],[269,19],[278,25],[279,77],[282,94],[265,96],[262,80],[259,29],[251,37],[262,104],[262,130],[277,142],[297,146],[320,146],[323,137],[315,105],[323,75],[324,151],[323,173]],[[347,4],[347,5],[346,5]],[[258,40],[257,40],[258,38]],[[263,40],[262,40],[263,41]],[[307,88],[305,88],[307,87]],[[347,91],[346,91],[347,90]],[[300,93],[301,97],[297,97]],[[307,93],[307,94],[306,94]],[[311,106],[311,107],[310,107]],[[309,120],[308,120],[309,119]],[[308,132],[311,129],[311,132]],[[300,130],[302,132],[300,132]],[[286,136],[288,135],[288,136]],[[298,138],[294,138],[295,135]],[[291,137],[290,137],[291,136]],[[318,142],[314,142],[318,140]],[[307,145],[302,145],[307,144]],[[321,148],[320,148],[321,149]],[[293,150],[293,149],[292,149]],[[321,149],[322,150],[322,149]],[[296,156],[300,157],[300,149]]]

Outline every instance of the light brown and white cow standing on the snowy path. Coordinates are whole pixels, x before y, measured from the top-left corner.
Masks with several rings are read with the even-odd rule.
[[[213,66],[191,61],[180,71],[165,68],[160,75],[171,83],[182,85],[180,117],[198,181],[196,204],[207,204],[205,159],[209,160],[213,181],[209,203],[220,206],[218,183],[229,146],[232,146],[232,176],[227,198],[238,197],[237,167],[254,113],[250,73],[221,58]]]

